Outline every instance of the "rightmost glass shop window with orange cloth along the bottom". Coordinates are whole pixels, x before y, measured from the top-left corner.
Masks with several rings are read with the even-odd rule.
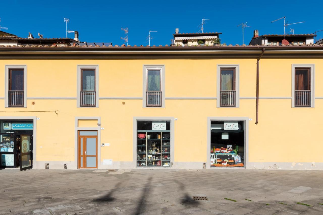
[[[241,167],[245,165],[245,121],[211,120],[210,165]]]

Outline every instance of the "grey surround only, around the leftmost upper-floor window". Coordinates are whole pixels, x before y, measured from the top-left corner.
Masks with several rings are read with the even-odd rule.
[[[24,107],[8,107],[9,69],[24,69]],[[27,108],[27,65],[5,65],[5,108]]]

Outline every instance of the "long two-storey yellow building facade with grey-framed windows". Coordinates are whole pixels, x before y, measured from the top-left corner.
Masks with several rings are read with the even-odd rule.
[[[81,154],[88,146],[80,144],[89,138],[87,144],[93,140],[96,147],[91,149],[95,154],[91,161],[97,163],[89,165],[94,169],[231,168],[225,162],[243,163],[232,168],[245,169],[323,169],[322,156],[313,153],[323,150],[322,54],[323,46],[0,47],[1,141],[3,148],[5,140],[15,144],[14,150],[2,150],[2,160],[11,159],[10,151],[16,153],[14,165],[3,161],[2,166],[25,162],[28,167],[29,162],[34,169],[85,168],[87,161],[83,159],[90,158]],[[259,117],[255,124],[256,63],[260,56]],[[14,91],[10,87],[16,84],[10,82],[18,74],[15,69],[22,71],[19,74],[24,80],[20,90],[24,97],[19,94],[25,99],[23,107],[12,106],[18,104],[10,94]],[[297,69],[308,73],[307,98],[305,94],[295,96],[301,91],[295,88]],[[87,74],[83,70],[94,71],[94,79],[81,79]],[[228,94],[220,94],[222,70],[234,71],[234,87],[227,90],[234,91],[230,107],[221,105],[228,102]],[[153,80],[160,77],[160,86],[152,90],[160,91],[157,100],[161,104],[157,106],[147,106],[150,74],[154,74]],[[15,80],[22,81],[18,76]],[[82,87],[91,85],[89,80],[95,83],[95,96],[86,98],[93,99],[95,107],[80,107],[85,98],[81,91],[87,91]],[[302,107],[296,104],[299,99],[307,99]],[[140,129],[138,121],[157,122],[160,128]],[[32,124],[29,146],[23,145],[21,136],[27,131],[26,122]],[[232,129],[226,130],[226,125]],[[163,126],[166,129],[162,130]],[[222,136],[215,135],[213,140],[217,129]],[[238,130],[242,136],[230,142],[230,132]],[[235,149],[238,142],[242,161],[235,163],[236,158],[230,157],[234,151],[229,148]],[[217,143],[227,147],[214,145]],[[139,148],[141,145],[145,147]],[[163,145],[168,147],[166,152]],[[216,147],[220,148],[218,154]],[[30,159],[22,158],[27,152]],[[229,153],[229,159],[224,153]],[[213,154],[223,167],[212,166]]]

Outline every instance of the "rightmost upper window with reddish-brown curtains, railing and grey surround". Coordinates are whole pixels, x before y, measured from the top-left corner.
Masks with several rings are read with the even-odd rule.
[[[293,66],[293,107],[314,107],[314,66]]]

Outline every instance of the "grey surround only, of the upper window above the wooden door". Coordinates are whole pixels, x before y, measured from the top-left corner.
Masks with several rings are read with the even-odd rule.
[[[81,69],[95,69],[95,107],[80,107],[81,91]],[[77,107],[78,108],[99,108],[99,65],[78,65],[77,66]]]

